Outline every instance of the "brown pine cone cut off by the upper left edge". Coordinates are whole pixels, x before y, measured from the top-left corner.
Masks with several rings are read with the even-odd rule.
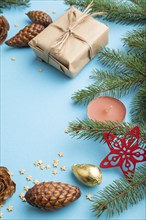
[[[6,39],[9,29],[10,26],[7,19],[4,16],[0,16],[0,44]]]

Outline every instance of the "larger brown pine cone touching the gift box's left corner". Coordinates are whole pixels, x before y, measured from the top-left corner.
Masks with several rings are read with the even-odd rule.
[[[45,27],[41,24],[31,24],[30,26],[25,26],[18,34],[7,40],[5,44],[12,47],[28,47],[29,41],[44,29]]]

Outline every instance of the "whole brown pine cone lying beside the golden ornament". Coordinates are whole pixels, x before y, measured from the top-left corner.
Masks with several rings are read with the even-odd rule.
[[[60,182],[42,182],[25,194],[26,201],[30,205],[44,210],[63,208],[80,196],[78,187]]]

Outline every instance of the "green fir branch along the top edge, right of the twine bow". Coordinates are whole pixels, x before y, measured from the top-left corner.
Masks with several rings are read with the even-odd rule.
[[[84,10],[91,0],[65,0],[66,4],[74,5]],[[107,12],[103,19],[117,23],[141,23],[146,20],[146,8],[140,3],[131,3],[115,0],[94,0],[93,12]]]

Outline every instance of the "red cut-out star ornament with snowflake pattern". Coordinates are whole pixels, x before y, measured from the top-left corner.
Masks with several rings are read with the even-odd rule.
[[[136,163],[146,161],[146,150],[138,146],[140,128],[132,128],[124,138],[104,133],[111,152],[100,163],[101,168],[120,167],[125,176],[135,171]]]

